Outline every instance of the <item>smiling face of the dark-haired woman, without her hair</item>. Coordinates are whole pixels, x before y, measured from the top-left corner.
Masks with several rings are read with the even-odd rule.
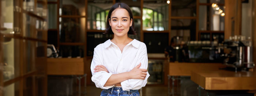
[[[114,36],[128,36],[127,33],[130,26],[132,26],[132,19],[130,20],[129,13],[126,9],[116,8],[110,16],[109,25],[112,28]]]

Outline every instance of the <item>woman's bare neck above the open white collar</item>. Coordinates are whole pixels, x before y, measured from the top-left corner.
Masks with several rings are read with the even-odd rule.
[[[114,35],[114,38],[111,40],[115,44],[126,44],[129,42],[131,38],[128,37],[128,35],[123,36],[123,37],[118,37]]]

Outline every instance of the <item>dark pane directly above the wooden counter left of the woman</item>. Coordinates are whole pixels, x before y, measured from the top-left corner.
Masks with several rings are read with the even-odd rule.
[[[60,46],[59,57],[62,58],[83,58],[84,46]]]

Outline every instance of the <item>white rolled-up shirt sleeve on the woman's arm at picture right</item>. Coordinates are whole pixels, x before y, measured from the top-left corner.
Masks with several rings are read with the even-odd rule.
[[[143,43],[144,44],[144,43]],[[136,66],[141,63],[140,69],[147,69],[148,66],[148,57],[147,57],[147,48],[146,45],[143,45],[143,48],[140,52],[138,62],[136,62]],[[123,82],[121,82],[122,89],[124,91],[130,91],[130,90],[138,90],[142,87],[145,87],[147,84],[147,78],[150,76],[150,74],[147,72],[146,78],[143,79],[128,79]]]

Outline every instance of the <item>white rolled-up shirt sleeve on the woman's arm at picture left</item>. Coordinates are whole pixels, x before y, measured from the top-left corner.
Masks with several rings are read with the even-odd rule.
[[[106,87],[104,87],[104,85],[106,81],[108,81],[112,73],[107,73],[105,71],[94,73],[95,66],[103,65],[103,56],[101,55],[102,50],[100,49],[99,46],[101,45],[98,45],[97,47],[94,48],[93,61],[91,62],[91,73],[93,75],[91,77],[91,80],[95,83],[97,88],[109,89],[109,88],[112,88],[114,85],[106,86]]]

